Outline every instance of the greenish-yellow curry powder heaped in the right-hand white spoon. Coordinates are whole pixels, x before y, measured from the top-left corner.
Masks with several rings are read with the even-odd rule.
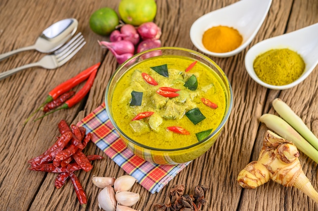
[[[253,67],[263,82],[282,86],[294,82],[303,74],[305,62],[290,49],[272,49],[256,57]]]

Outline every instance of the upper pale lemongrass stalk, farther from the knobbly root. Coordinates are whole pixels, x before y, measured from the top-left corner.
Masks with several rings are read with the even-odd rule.
[[[276,98],[272,102],[275,111],[290,124],[299,134],[301,134],[307,142],[309,142],[316,150],[318,150],[318,138],[305,125],[303,120],[295,114],[295,112],[281,99]]]

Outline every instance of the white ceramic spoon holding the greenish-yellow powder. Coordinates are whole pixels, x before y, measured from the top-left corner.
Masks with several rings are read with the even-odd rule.
[[[274,86],[261,81],[256,75],[253,62],[255,58],[271,49],[288,48],[297,52],[305,62],[304,73],[296,81],[283,86]],[[245,56],[245,67],[250,77],[257,83],[270,89],[289,89],[305,80],[318,63],[318,23],[296,31],[273,37],[251,47]]]

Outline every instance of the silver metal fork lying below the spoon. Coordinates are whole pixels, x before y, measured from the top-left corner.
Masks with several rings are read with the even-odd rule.
[[[10,69],[10,71],[0,73],[0,80],[29,67],[42,66],[46,69],[55,69],[60,67],[69,61],[85,45],[85,43],[86,42],[84,41],[83,35],[81,32],[79,32],[67,44],[54,51],[53,54],[42,57],[38,62],[26,64],[14,69]]]

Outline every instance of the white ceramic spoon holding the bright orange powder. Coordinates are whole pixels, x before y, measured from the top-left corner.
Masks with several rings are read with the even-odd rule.
[[[192,43],[202,52],[215,57],[230,57],[240,53],[255,38],[263,24],[272,0],[241,0],[198,18],[190,28]],[[242,45],[227,53],[214,53],[202,44],[203,33],[213,26],[229,26],[243,37]]]

